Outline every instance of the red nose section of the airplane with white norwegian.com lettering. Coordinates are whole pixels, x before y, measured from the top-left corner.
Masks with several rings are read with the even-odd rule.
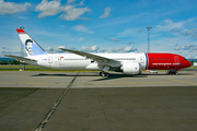
[[[147,53],[148,70],[179,70],[190,67],[184,57],[174,53]]]

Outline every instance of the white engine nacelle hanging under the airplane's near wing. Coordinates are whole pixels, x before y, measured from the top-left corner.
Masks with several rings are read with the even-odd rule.
[[[141,64],[139,62],[124,62],[120,69],[124,74],[139,74]]]

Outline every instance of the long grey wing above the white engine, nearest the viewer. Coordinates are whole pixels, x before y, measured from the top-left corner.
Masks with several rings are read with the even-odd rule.
[[[83,51],[78,51],[78,50],[71,50],[71,49],[63,49],[63,48],[59,48],[61,50],[68,51],[68,52],[72,52],[82,57],[85,57],[86,59],[92,59],[93,61],[97,61],[97,62],[119,62],[113,59],[108,59],[102,56],[97,56],[97,55],[93,55],[93,53],[89,53],[89,52],[83,52]]]

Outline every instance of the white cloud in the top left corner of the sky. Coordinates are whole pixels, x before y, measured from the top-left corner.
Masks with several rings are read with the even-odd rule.
[[[13,14],[18,12],[25,12],[27,8],[31,7],[31,3],[25,2],[24,4],[15,3],[15,2],[4,2],[4,0],[0,0],[0,14]]]

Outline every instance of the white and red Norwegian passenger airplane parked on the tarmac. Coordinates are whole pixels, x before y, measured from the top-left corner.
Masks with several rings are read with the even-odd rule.
[[[27,57],[4,55],[23,63],[58,70],[99,70],[102,78],[108,71],[123,74],[140,74],[141,70],[169,70],[177,74],[183,68],[190,67],[184,57],[166,52],[143,53],[90,53],[59,48],[71,53],[47,53],[23,28],[16,28]]]

